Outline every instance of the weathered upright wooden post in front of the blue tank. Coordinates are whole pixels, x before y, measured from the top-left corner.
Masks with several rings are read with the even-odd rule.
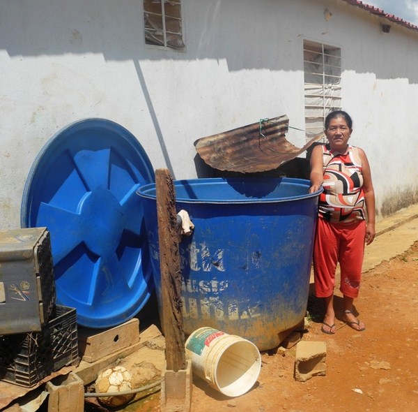
[[[185,334],[181,313],[181,271],[178,251],[179,235],[176,193],[169,170],[155,171],[158,239],[162,295],[162,328],[166,341],[167,369],[175,372],[186,368]]]

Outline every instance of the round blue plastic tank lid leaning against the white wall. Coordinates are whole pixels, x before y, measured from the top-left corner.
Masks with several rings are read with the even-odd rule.
[[[49,230],[56,301],[77,309],[79,325],[119,325],[150,297],[153,277],[137,189],[152,182],[139,141],[107,119],[66,126],[33,163],[21,226]]]

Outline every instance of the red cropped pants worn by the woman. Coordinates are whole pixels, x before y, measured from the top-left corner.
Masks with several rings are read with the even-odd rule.
[[[357,297],[362,279],[366,221],[330,223],[319,218],[314,244],[314,276],[317,297],[334,293],[336,264],[341,270],[340,290]]]

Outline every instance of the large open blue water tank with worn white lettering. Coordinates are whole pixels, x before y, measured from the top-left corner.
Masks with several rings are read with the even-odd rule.
[[[174,181],[177,211],[195,225],[180,242],[186,334],[209,326],[263,351],[303,321],[320,194],[309,186],[289,178]],[[161,308],[155,184],[137,193]]]

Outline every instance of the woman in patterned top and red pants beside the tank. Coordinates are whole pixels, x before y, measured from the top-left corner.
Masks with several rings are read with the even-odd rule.
[[[359,294],[364,244],[375,237],[375,198],[366,154],[348,144],[353,131],[348,113],[336,110],[325,119],[327,145],[311,154],[311,187],[323,186],[314,244],[314,277],[317,297],[325,302],[322,332],[335,333],[334,284],[339,263],[343,293],[343,321],[362,331],[366,327],[353,314]],[[366,214],[367,212],[367,214]]]

